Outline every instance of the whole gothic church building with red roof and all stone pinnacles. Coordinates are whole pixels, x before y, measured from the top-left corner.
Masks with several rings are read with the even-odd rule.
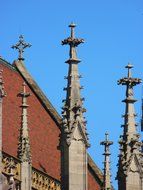
[[[0,189],[2,190],[113,190],[110,145],[106,134],[104,170],[87,153],[90,146],[81,97],[76,48],[84,42],[69,25],[68,74],[62,116],[28,73],[23,58],[30,44],[20,36],[13,46],[19,56],[12,64],[0,57]],[[142,143],[135,122],[133,87],[141,82],[128,74],[118,81],[126,85],[123,134],[120,138],[118,189],[143,190]]]

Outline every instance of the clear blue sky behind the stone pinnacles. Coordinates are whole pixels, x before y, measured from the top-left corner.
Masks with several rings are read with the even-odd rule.
[[[77,37],[86,43],[78,48],[81,84],[87,108],[89,153],[102,168],[104,133],[110,133],[112,146],[112,181],[115,176],[118,139],[122,133],[121,114],[125,89],[117,80],[126,75],[124,66],[134,64],[134,76],[143,78],[143,1],[142,0],[0,0],[0,55],[9,62],[17,58],[12,50],[18,36],[32,44],[25,52],[25,65],[39,86],[61,112],[66,86],[68,47],[61,40],[69,36],[70,22],[75,22]],[[141,113],[141,86],[136,111]],[[137,119],[139,121],[139,118]]]

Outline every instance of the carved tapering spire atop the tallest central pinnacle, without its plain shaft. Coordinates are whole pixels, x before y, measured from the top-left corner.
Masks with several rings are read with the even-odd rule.
[[[63,106],[63,127],[65,132],[65,139],[68,144],[70,144],[75,126],[79,125],[80,131],[83,136],[83,140],[88,146],[88,138],[86,133],[83,113],[85,109],[83,108],[83,98],[81,98],[80,90],[83,88],[80,86],[79,78],[81,77],[78,73],[78,63],[80,60],[77,58],[76,47],[83,43],[83,39],[75,38],[75,24],[70,24],[71,36],[62,41],[62,45],[69,45],[69,59],[66,63],[69,64],[68,76],[66,77],[68,84],[67,88],[64,90],[67,91],[66,100],[64,101]]]

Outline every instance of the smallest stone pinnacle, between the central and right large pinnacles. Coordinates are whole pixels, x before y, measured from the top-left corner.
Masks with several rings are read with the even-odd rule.
[[[110,174],[110,145],[113,144],[112,141],[109,141],[108,133],[105,133],[105,141],[102,141],[100,144],[104,146],[104,181],[103,181],[103,190],[111,190],[111,174]]]

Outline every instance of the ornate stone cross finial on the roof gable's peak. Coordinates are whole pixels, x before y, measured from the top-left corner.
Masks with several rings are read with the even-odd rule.
[[[19,60],[24,60],[23,58],[23,53],[24,53],[24,49],[27,48],[27,47],[31,47],[31,44],[29,43],[26,43],[24,41],[24,38],[22,35],[19,36],[19,42],[15,45],[12,46],[13,49],[17,49],[18,52],[19,52],[19,56],[18,56],[18,59]]]

